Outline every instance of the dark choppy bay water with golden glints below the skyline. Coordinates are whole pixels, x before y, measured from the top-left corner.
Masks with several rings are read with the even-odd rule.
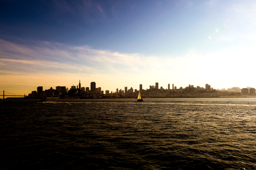
[[[256,169],[256,98],[0,101],[3,169]]]

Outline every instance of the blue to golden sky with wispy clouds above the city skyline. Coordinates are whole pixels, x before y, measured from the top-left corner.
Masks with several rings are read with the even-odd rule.
[[[255,47],[255,1],[0,1],[0,91],[14,94],[255,88]]]

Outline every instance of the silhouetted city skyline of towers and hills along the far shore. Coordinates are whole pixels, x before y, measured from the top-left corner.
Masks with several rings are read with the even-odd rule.
[[[213,89],[211,85],[205,84],[204,87],[194,85],[188,85],[183,88],[177,89],[174,84],[172,88],[170,84],[167,85],[168,89],[164,89],[156,82],[155,85],[149,85],[149,89],[144,90],[142,84],[139,85],[139,90],[133,89],[132,87],[128,89],[127,86],[122,89],[116,89],[116,92],[110,92],[109,90],[104,91],[101,87],[96,87],[95,82],[91,82],[90,87],[81,87],[79,80],[78,85],[72,85],[70,89],[66,86],[56,86],[55,89],[52,87],[50,89],[43,90],[42,86],[37,87],[37,91],[32,91],[28,97],[33,98],[136,98],[140,91],[142,98],[176,98],[176,97],[247,97],[256,96],[255,88],[247,87],[240,89],[239,87],[232,87],[230,89]]]

